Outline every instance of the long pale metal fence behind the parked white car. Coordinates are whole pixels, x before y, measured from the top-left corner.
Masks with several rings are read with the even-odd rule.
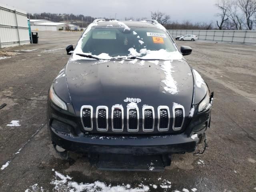
[[[192,34],[200,40],[222,41],[230,43],[256,44],[254,30],[168,30],[172,37]]]

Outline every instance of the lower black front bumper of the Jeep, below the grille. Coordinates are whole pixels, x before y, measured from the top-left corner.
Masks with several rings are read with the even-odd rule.
[[[161,136],[99,136],[81,133],[74,136],[50,127],[52,141],[62,148],[83,153],[156,155],[193,152],[198,138],[185,134]]]

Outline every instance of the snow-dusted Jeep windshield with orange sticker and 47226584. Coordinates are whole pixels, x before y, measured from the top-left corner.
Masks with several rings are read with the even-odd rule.
[[[169,58],[178,52],[167,32],[159,28],[91,28],[80,42],[80,52],[100,58],[139,56],[146,59]],[[78,53],[78,52],[76,52]],[[164,58],[163,58],[164,54]],[[180,55],[180,53],[178,52]],[[179,58],[181,59],[181,57]]]

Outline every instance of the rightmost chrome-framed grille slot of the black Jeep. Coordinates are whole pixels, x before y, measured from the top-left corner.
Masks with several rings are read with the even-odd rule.
[[[173,113],[173,124],[172,129],[178,131],[182,129],[184,119],[185,119],[185,110],[182,105],[174,105],[172,107]]]

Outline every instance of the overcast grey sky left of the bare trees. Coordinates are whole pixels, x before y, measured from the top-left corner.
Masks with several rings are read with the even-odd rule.
[[[1,0],[30,13],[73,13],[93,17],[150,18],[150,11],[161,11],[171,20],[215,21],[216,0]]]

